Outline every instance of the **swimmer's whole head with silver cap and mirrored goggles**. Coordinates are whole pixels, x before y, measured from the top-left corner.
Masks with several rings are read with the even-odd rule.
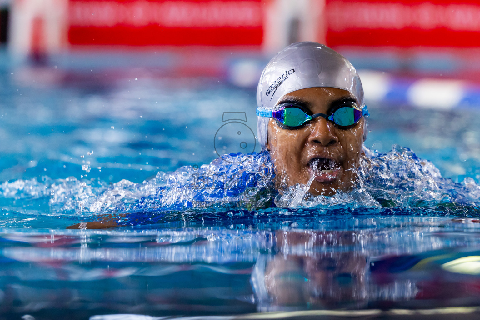
[[[312,181],[314,195],[351,188],[368,112],[360,78],[346,58],[316,42],[286,47],[262,72],[257,105],[260,143],[284,184]]]

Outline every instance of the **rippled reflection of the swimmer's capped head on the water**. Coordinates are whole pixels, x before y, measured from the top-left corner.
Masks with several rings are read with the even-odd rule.
[[[285,308],[360,307],[366,301],[367,262],[357,252],[295,252],[328,239],[352,242],[351,233],[276,232],[277,255],[252,276],[262,311]],[[308,252],[308,254],[307,254]]]

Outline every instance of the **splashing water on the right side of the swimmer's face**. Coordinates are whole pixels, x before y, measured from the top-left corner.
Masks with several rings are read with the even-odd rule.
[[[431,161],[398,145],[385,154],[369,152],[360,164],[360,175],[367,192],[384,207],[479,204],[480,186],[472,178],[461,184],[442,178]]]

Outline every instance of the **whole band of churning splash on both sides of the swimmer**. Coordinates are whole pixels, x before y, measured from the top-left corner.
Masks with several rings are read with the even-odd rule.
[[[278,193],[274,164],[265,151],[229,154],[231,161],[228,162],[218,158],[200,167],[182,166],[171,173],[158,172],[155,178],[143,183],[121,180],[108,184],[73,177],[4,182],[0,185],[0,204],[4,210],[24,215],[62,215],[77,219],[110,215],[127,225],[145,222],[144,218],[139,219],[142,216],[175,216],[188,220],[200,216],[217,218],[216,213],[225,216],[225,212],[230,213],[227,214],[230,218],[245,214],[289,215],[297,214],[297,209],[311,209],[302,214],[365,209],[384,212],[384,208],[400,208],[406,212],[414,208],[415,212],[429,214],[442,208],[454,208],[453,211],[465,214],[480,211],[480,186],[472,178],[466,178],[463,183],[442,178],[432,162],[397,145],[385,154],[366,148],[364,153],[356,188],[350,192],[337,191],[334,196],[310,194],[312,181]],[[125,217],[126,214],[135,218]]]

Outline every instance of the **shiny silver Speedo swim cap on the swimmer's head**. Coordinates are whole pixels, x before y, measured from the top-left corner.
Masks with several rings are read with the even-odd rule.
[[[313,87],[347,90],[359,107],[365,107],[357,71],[344,56],[317,42],[294,43],[268,62],[257,87],[257,109],[273,110],[277,101],[290,92]],[[266,147],[270,118],[257,117],[260,144]],[[364,126],[366,138],[366,125]]]

